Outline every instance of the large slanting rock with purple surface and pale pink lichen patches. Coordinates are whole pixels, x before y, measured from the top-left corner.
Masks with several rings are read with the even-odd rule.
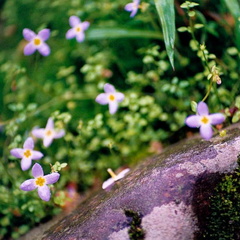
[[[184,140],[143,161],[111,191],[99,191],[47,229],[42,239],[128,240],[129,233],[132,239],[194,239],[203,200],[221,174],[237,167],[238,127],[225,138]]]

